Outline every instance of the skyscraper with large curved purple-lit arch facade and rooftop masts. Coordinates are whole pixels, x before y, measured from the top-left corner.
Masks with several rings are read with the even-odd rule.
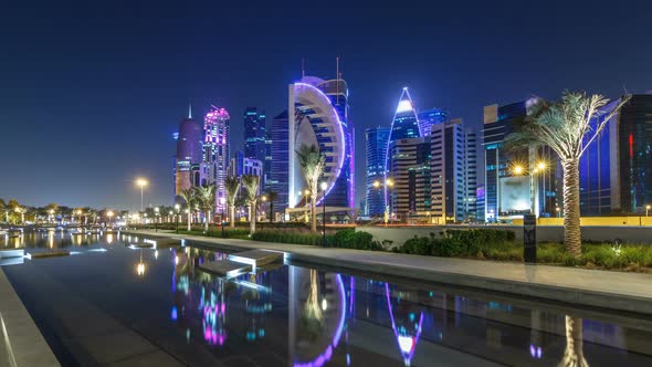
[[[324,81],[304,76],[290,85],[288,108],[288,207],[302,200],[305,189],[295,151],[302,144],[316,145],[326,156],[324,181],[327,207],[348,211],[354,201],[354,128],[348,120],[348,87],[344,80]],[[274,141],[275,143],[275,141]],[[317,203],[323,201],[319,192]]]

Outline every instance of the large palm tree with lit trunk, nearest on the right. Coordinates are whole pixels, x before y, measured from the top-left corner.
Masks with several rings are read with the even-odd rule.
[[[539,101],[523,125],[506,139],[511,146],[548,146],[559,156],[564,172],[564,243],[572,256],[581,255],[579,159],[629,99],[630,96],[623,96],[607,113],[600,108],[609,103],[608,98],[565,92],[560,101]]]

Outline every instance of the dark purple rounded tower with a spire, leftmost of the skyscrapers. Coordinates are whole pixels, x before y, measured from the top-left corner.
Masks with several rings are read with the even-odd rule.
[[[178,197],[181,190],[192,186],[199,186],[199,167],[202,161],[203,129],[192,118],[192,108],[188,106],[188,117],[179,124],[179,136],[177,139],[177,165],[175,193]]]

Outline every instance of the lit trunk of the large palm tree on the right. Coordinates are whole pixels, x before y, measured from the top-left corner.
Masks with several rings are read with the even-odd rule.
[[[581,256],[581,229],[579,226],[579,161],[561,161],[564,169],[564,243],[575,258]]]

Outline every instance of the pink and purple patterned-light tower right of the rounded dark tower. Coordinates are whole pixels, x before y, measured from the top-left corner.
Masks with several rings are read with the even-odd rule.
[[[229,174],[229,113],[224,108],[211,106],[203,119],[203,164],[202,184],[214,182],[215,212],[227,210],[224,180]]]

